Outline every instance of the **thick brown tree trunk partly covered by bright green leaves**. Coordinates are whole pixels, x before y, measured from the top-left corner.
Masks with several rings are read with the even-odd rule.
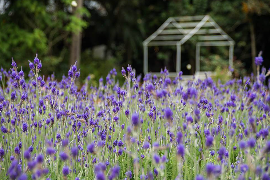
[[[77,0],[77,7],[73,8],[75,16],[82,19],[82,16],[78,13],[78,9],[82,7],[83,0]],[[72,32],[71,45],[70,45],[70,59],[69,64],[73,65],[77,61],[77,67],[80,67],[80,56],[82,47],[82,32]]]

